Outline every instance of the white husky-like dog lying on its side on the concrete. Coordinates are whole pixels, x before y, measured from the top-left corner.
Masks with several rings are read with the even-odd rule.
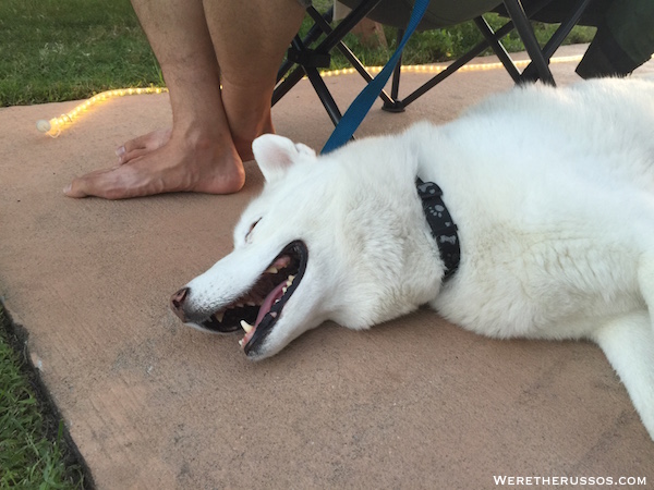
[[[242,326],[255,359],[427,303],[494,338],[591,339],[654,439],[654,83],[516,88],[320,157],[274,135],[253,148],[265,188],[234,250],[173,295],[184,322]],[[416,177],[458,226],[447,281]]]

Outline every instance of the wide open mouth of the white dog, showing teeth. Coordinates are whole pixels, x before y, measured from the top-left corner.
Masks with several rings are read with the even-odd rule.
[[[202,322],[203,328],[215,332],[243,329],[245,336],[239,343],[247,354],[266,339],[281,316],[286,303],[302,280],[307,257],[303,242],[291,242],[249,292],[215,311]]]

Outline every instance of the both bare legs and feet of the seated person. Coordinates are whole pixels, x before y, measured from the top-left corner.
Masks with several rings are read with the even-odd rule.
[[[75,179],[64,191],[66,195],[125,198],[174,191],[223,194],[242,187],[245,177],[242,159],[252,158],[252,140],[272,131],[270,95],[275,73],[299,27],[303,9],[295,0],[280,0],[275,3],[277,15],[249,19],[247,2],[225,3],[221,9],[209,8],[211,15],[221,16],[211,19],[211,32],[216,33],[219,26],[211,42],[199,0],[133,0],[169,87],[172,130],[128,142],[118,151],[118,167]],[[290,17],[284,14],[288,10],[293,11]],[[288,22],[289,19],[292,21]],[[267,26],[275,22],[278,27]],[[244,62],[244,51],[235,42],[249,41],[262,49],[250,50],[252,58]],[[268,41],[275,47],[271,51],[267,49]],[[233,73],[232,79],[237,81],[234,91],[239,96],[228,97],[229,119],[220,93],[220,58],[214,46],[220,47],[228,73]],[[228,56],[232,47],[235,56]],[[272,54],[275,60],[270,59]],[[239,64],[257,66],[253,72],[243,72],[250,76],[244,90],[234,69]]]

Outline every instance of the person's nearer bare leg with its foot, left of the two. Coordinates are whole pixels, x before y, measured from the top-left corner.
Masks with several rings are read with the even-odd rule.
[[[65,194],[110,199],[174,191],[230,193],[244,182],[220,100],[219,68],[199,0],[134,0],[170,91],[169,137],[123,164],[75,179]],[[156,147],[160,144],[160,147]]]

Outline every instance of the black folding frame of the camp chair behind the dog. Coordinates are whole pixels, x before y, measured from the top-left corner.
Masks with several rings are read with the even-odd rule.
[[[304,75],[307,76],[318,98],[323,102],[331,121],[337,124],[341,119],[341,112],[329,94],[327,86],[320,77],[318,69],[329,66],[330,52],[338,49],[343,53],[352,66],[361,76],[370,82],[372,76],[365,71],[365,68],[354,53],[342,42],[342,38],[348,34],[363,17],[382,22],[400,29],[400,36],[409,19],[409,9],[397,9],[398,0],[341,0],[353,7],[352,12],[347,15],[336,27],[331,27],[332,9],[320,14],[313,7],[307,9],[308,15],[314,21],[314,25],[306,36],[301,39],[299,36],[292,41],[288,51],[287,60],[281,65],[278,73],[278,85],[276,86],[272,105],[283,97]],[[415,89],[409,96],[399,98],[400,83],[400,63],[396,66],[391,93],[382,91],[379,97],[384,101],[384,108],[390,111],[402,111],[408,105],[424,95],[438,83],[450,76],[473,58],[481,54],[485,49],[492,48],[499,58],[502,65],[516,83],[534,82],[537,79],[554,85],[554,77],[549,71],[549,58],[560,46],[565,37],[572,27],[579,22],[579,19],[591,3],[592,0],[577,0],[572,8],[569,8],[567,17],[552,36],[543,49],[538,46],[530,20],[534,19],[553,0],[534,0],[529,4],[525,11],[521,0],[504,0],[502,3],[497,0],[469,0],[463,2],[447,2],[443,0],[432,0],[428,11],[419,25],[419,29],[440,28],[457,23],[473,20],[481,30],[484,40],[473,47],[469,52],[452,62],[446,70],[438,73],[423,86]],[[407,7],[404,4],[404,7]],[[509,21],[497,32],[493,32],[482,14],[497,11],[506,15]],[[525,50],[531,59],[531,63],[521,73],[510,56],[502,47],[500,39],[516,29],[525,46]],[[324,36],[324,37],[323,37]],[[296,65],[296,66],[295,66]],[[291,71],[291,69],[294,70]],[[289,73],[290,72],[290,73]],[[288,76],[287,76],[288,74]]]

